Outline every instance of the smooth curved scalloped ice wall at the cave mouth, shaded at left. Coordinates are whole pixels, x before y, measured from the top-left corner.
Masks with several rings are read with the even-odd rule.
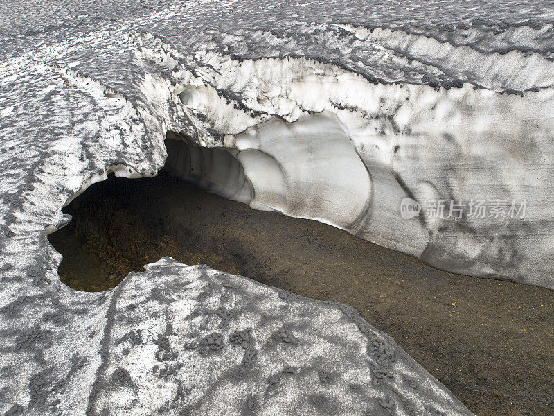
[[[370,176],[334,114],[271,120],[238,135],[232,150],[208,149],[172,140],[166,169],[255,209],[349,230],[368,216]]]

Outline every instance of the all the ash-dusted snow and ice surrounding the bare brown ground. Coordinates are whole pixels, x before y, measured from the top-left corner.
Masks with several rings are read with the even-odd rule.
[[[169,258],[75,292],[46,232],[107,173],[155,175],[171,130],[240,161],[251,189],[229,196],[253,207],[552,287],[553,13],[537,1],[3,1],[0,413],[469,415],[346,306]],[[314,178],[316,198],[298,203]],[[336,181],[355,195],[334,195]],[[532,204],[518,223],[402,221],[406,195]]]

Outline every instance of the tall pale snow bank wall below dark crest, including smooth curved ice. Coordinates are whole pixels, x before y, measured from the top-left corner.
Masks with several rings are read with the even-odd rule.
[[[305,58],[203,58],[224,75],[200,81],[177,66],[166,99],[184,146],[226,149],[242,164],[239,176],[218,167],[225,183],[238,182],[215,192],[330,223],[445,270],[553,287],[553,89],[521,96],[467,83],[375,85]],[[182,118],[194,130],[179,129]],[[213,126],[226,134],[214,138]],[[188,175],[171,159],[166,166]],[[418,216],[403,218],[404,198],[420,205]]]

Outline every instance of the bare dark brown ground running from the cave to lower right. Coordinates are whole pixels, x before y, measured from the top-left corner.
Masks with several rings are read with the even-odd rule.
[[[253,211],[161,173],[110,177],[49,239],[62,281],[116,286],[169,255],[357,308],[476,415],[554,415],[554,291],[436,270],[311,220]]]

